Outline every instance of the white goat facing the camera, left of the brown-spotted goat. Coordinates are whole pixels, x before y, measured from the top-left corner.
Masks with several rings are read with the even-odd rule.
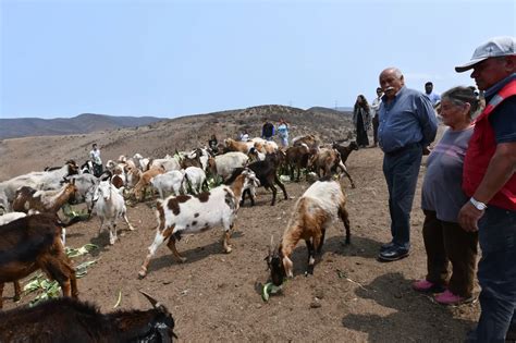
[[[127,220],[124,197],[119,189],[109,181],[101,181],[94,196],[94,210],[100,218],[99,233],[102,231],[105,222],[109,229],[109,244],[114,244],[116,241],[116,221],[123,218],[131,231],[133,225]]]

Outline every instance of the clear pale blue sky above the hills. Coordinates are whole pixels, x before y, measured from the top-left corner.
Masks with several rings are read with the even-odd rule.
[[[0,0],[0,118],[175,118],[372,100],[378,75],[438,93],[516,35],[516,1]]]

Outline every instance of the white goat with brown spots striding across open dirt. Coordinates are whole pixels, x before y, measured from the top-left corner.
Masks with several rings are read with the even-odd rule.
[[[250,182],[258,181],[253,171],[245,170],[231,186],[221,185],[199,195],[170,196],[158,200],[156,205],[158,228],[155,241],[149,246],[149,253],[138,273],[139,278],[145,278],[150,259],[167,240],[169,241],[167,246],[172,250],[174,257],[180,262],[186,261],[186,258],[181,256],[175,247],[175,241],[179,241],[182,234],[199,233],[222,225],[224,228],[223,248],[225,253],[231,253],[230,234],[234,228],[239,207],[238,201],[242,191]]]

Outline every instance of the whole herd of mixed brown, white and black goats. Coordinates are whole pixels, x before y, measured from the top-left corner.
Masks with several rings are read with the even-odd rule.
[[[126,217],[126,199],[142,201],[150,188],[152,194],[156,189],[159,193],[156,201],[158,225],[138,272],[143,279],[163,242],[167,242],[177,261],[186,260],[175,246],[182,234],[222,226],[222,248],[224,253],[231,253],[230,236],[245,198],[248,197],[254,206],[256,187],[263,186],[271,191],[273,206],[277,186],[284,198],[288,198],[279,174],[290,174],[292,181],[299,181],[302,169],[311,171],[317,174],[318,181],[297,199],[279,246],[275,249],[271,247],[267,258],[271,281],[280,285],[285,278],[293,277],[290,256],[300,240],[306,242],[308,248],[309,273],[314,272],[316,256],[321,253],[325,229],[334,220],[342,220],[345,242],[349,243],[346,197],[340,181],[335,181],[333,175],[345,174],[355,187],[345,161],[356,149],[355,142],[320,146],[314,135],[295,138],[293,146],[285,150],[261,138],[249,142],[228,138],[220,149],[221,154],[217,155],[209,149],[197,148],[162,159],[144,158],[139,154],[130,159],[122,156],[118,161],[108,161],[106,172],[99,177],[91,174],[91,163],[86,162],[79,168],[70,160],[60,168],[0,182],[0,209],[3,212],[0,216],[0,309],[4,283],[13,282],[15,298],[19,298],[19,280],[36,270],[56,280],[65,296],[34,308],[0,313],[0,342],[12,341],[15,335],[15,340],[33,341],[38,332],[48,335],[38,336],[38,341],[42,342],[71,342],[81,334],[85,335],[78,341],[96,342],[170,342],[175,336],[171,314],[148,294],[144,295],[152,304],[151,310],[108,315],[76,299],[75,269],[64,250],[64,228],[77,219],[66,222],[60,219],[58,211],[65,204],[85,203],[89,216],[95,213],[100,219],[99,231],[107,226],[109,243],[114,244],[119,219],[124,219],[130,230],[134,230]],[[210,188],[207,175],[220,185]],[[74,329],[62,331],[60,326],[52,326],[54,320],[62,320],[66,328]],[[32,324],[27,326],[28,322]],[[22,329],[20,323],[24,323],[25,328]],[[96,329],[91,329],[91,323]],[[20,332],[25,336],[21,338]]]

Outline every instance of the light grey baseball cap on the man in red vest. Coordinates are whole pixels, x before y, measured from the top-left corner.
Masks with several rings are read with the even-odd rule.
[[[489,58],[516,54],[516,38],[511,36],[494,37],[475,49],[471,60],[455,66],[457,73],[465,72]]]

